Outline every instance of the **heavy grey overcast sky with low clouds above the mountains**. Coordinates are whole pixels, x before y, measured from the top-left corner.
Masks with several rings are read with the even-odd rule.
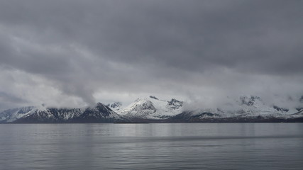
[[[303,1],[0,1],[0,110],[303,94]]]

